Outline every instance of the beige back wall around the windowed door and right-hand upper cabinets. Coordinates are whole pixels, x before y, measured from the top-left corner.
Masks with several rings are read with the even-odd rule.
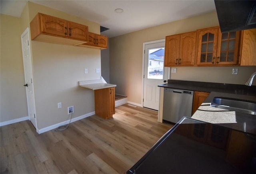
[[[144,42],[164,39],[166,35],[195,31],[217,26],[216,12],[195,16],[110,38],[110,83],[116,84],[116,93],[128,96],[128,101],[141,104],[142,96],[142,46]],[[182,67],[171,79],[244,84],[253,67],[239,67],[238,75],[231,67]]]

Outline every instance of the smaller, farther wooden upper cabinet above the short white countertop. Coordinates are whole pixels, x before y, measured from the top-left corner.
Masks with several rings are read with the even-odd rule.
[[[88,42],[80,46],[91,46],[93,48],[106,49],[108,48],[108,37],[89,32]]]

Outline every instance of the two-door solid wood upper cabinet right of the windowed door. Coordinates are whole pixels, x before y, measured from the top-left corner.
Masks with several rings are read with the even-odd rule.
[[[164,66],[193,66],[196,31],[166,36]]]

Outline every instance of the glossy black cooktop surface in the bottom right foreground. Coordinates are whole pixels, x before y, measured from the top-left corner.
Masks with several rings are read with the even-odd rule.
[[[255,135],[183,117],[126,174],[255,173],[254,151]]]

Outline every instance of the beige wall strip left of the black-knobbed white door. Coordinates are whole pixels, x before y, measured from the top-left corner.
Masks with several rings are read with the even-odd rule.
[[[28,116],[20,40],[20,19],[0,16],[0,122]]]

